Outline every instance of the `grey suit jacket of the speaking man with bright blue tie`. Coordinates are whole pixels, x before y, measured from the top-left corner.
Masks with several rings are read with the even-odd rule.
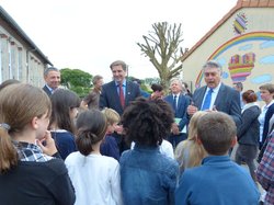
[[[195,90],[193,94],[193,103],[201,110],[203,99],[207,87]],[[214,103],[217,111],[221,111],[230,115],[237,127],[241,125],[241,106],[239,92],[224,83],[221,83],[216,101]]]

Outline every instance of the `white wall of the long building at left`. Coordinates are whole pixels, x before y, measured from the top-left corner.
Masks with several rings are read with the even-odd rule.
[[[0,25],[0,83],[16,79],[33,86],[44,86],[46,65],[30,49],[26,43],[16,39]]]

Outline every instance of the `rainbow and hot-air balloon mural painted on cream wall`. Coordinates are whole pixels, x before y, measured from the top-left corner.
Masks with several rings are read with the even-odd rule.
[[[254,47],[256,46],[256,47]],[[251,75],[252,69],[259,69],[264,65],[274,65],[274,53],[270,52],[266,56],[260,56],[260,53],[248,53],[248,49],[263,50],[274,47],[274,32],[251,32],[243,35],[236,36],[221,46],[219,46],[208,58],[208,60],[217,60],[224,68],[228,67],[222,73],[222,78],[231,78],[232,82],[243,82],[247,77]],[[226,52],[233,52],[235,54],[226,59]],[[244,52],[243,55],[237,54]],[[260,56],[260,57],[259,57]],[[256,60],[255,60],[256,58]],[[254,64],[256,61],[256,64]],[[258,68],[256,68],[258,66]],[[251,83],[264,83],[272,81],[272,75],[262,73],[252,77]],[[203,71],[201,70],[195,82],[195,88],[199,88],[203,79]]]

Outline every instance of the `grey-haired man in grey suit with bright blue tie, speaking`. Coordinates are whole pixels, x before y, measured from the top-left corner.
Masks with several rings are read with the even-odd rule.
[[[217,61],[207,61],[203,70],[206,86],[195,90],[193,103],[187,107],[187,114],[193,115],[201,110],[220,111],[230,115],[238,127],[241,124],[238,91],[221,82],[221,67]]]

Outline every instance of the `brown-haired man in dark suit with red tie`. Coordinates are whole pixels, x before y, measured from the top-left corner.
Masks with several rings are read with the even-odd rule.
[[[110,107],[115,110],[119,115],[125,107],[140,96],[139,86],[126,80],[127,65],[122,60],[111,64],[113,81],[103,84],[100,95],[100,109]],[[116,135],[116,140],[121,152],[129,147],[125,145],[121,135]]]

